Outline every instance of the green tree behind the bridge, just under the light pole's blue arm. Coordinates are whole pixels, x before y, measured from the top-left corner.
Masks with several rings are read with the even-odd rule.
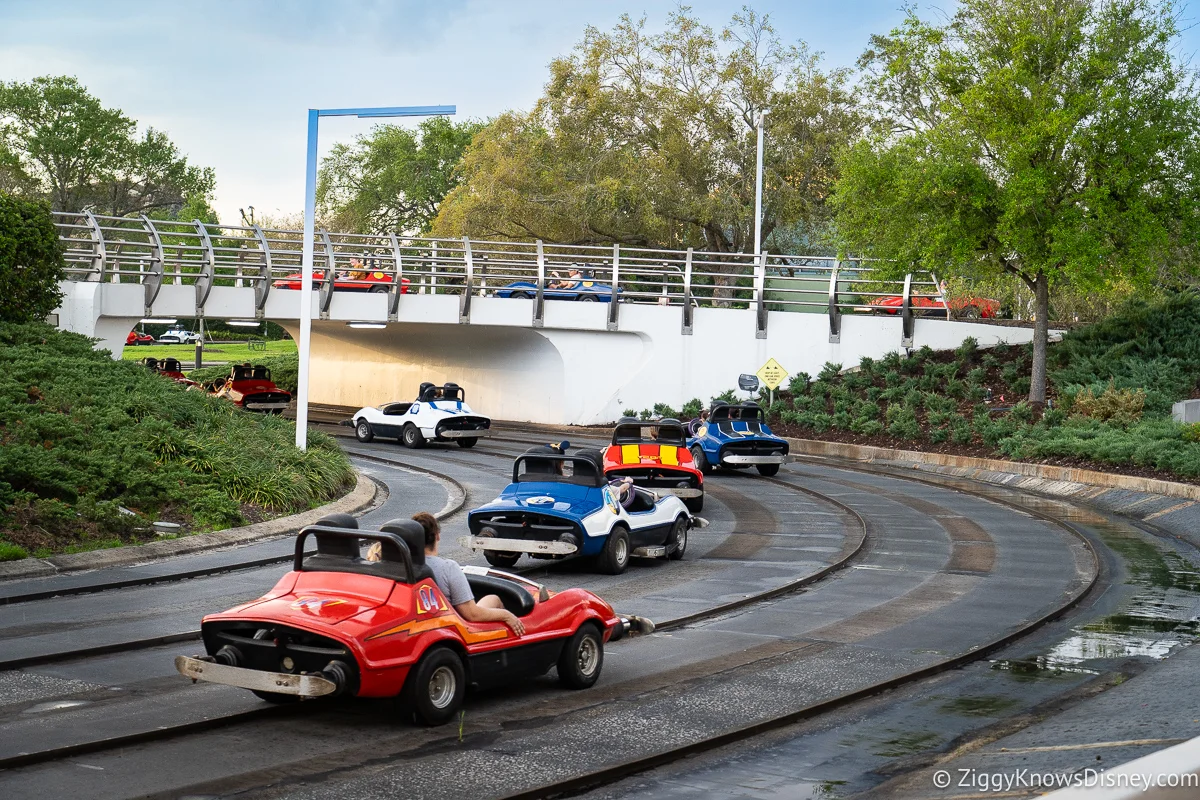
[[[317,184],[322,216],[352,233],[428,233],[442,199],[458,184],[463,150],[482,127],[434,116],[415,132],[382,125],[353,145],[334,145]]]

